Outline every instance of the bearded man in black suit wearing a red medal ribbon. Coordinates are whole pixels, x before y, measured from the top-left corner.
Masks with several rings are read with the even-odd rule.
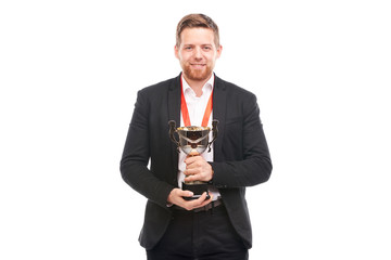
[[[139,237],[148,259],[248,259],[245,186],[267,181],[272,162],[255,95],[213,74],[222,50],[210,17],[185,16],[175,46],[182,73],[138,92],[121,172],[148,198]],[[201,126],[205,115],[207,126],[219,121],[212,152],[178,154],[167,122]],[[185,199],[193,194],[180,188],[182,180],[207,182],[211,197]]]

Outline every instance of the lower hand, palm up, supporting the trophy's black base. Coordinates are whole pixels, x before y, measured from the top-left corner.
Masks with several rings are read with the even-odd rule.
[[[194,208],[204,207],[207,204],[212,203],[212,196],[210,199],[206,199],[206,193],[204,192],[201,197],[193,200],[185,200],[184,197],[191,197],[193,195],[190,191],[182,191],[178,187],[175,187],[168,195],[167,202],[175,204],[179,207],[182,207],[187,210],[192,210]]]

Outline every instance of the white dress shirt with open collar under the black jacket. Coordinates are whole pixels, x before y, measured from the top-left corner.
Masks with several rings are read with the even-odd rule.
[[[212,74],[212,77],[203,86],[201,96],[197,96],[195,92],[190,88],[188,82],[186,82],[186,79],[184,78],[184,76],[181,76],[181,77],[182,77],[181,80],[182,80],[184,95],[185,95],[186,104],[187,104],[187,107],[189,110],[191,126],[199,127],[202,123],[202,119],[205,114],[206,105],[207,105],[209,99],[213,91],[214,74]],[[212,129],[212,119],[213,119],[213,110],[212,110],[211,117],[207,122],[207,127],[210,127],[211,129]],[[180,126],[181,127],[185,126],[181,112],[180,112]],[[210,132],[210,142],[212,141],[212,135],[213,134],[211,131]],[[184,179],[186,177],[184,173],[184,171],[186,170],[186,164],[185,164],[186,156],[187,155],[180,150],[179,159],[178,159],[178,169],[179,169],[178,170],[178,186],[180,188],[181,188]],[[213,161],[213,145],[212,145],[212,150],[210,153],[207,153],[207,150],[206,150],[204,153],[201,154],[201,156],[206,161]],[[212,185],[209,187],[209,192],[211,195],[213,195],[213,200],[216,200],[217,197],[220,196],[218,190]]]

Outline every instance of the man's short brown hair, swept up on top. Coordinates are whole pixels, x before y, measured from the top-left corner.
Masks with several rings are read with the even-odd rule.
[[[213,30],[214,34],[214,41],[216,48],[219,47],[219,36],[218,36],[218,27],[215,22],[211,17],[204,14],[188,14],[182,17],[177,26],[176,31],[176,46],[179,48],[180,46],[180,34],[186,28],[209,28]]]

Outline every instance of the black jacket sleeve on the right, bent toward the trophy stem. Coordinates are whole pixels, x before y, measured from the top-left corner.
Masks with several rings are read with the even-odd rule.
[[[247,98],[242,102],[241,133],[237,136],[242,144],[239,158],[210,162],[214,170],[213,184],[219,188],[253,186],[266,182],[272,173],[272,160],[256,98],[253,94]],[[228,146],[226,143],[224,145]]]

